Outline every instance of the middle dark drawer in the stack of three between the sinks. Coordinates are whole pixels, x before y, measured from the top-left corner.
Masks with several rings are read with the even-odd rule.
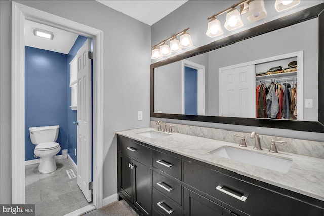
[[[153,187],[181,205],[181,185],[153,171]]]

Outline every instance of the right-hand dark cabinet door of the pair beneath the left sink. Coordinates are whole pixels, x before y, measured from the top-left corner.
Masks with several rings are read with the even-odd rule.
[[[144,214],[151,215],[151,169],[133,160],[134,205]]]

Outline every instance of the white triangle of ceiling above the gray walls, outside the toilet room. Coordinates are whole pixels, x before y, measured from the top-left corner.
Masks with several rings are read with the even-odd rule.
[[[188,0],[96,0],[110,8],[153,25]]]

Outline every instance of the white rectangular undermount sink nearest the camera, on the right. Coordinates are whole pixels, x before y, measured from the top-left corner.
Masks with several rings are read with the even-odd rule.
[[[290,159],[259,154],[254,151],[239,149],[231,146],[223,146],[218,149],[214,149],[209,153],[282,173],[288,172],[289,167],[292,164],[292,160]]]

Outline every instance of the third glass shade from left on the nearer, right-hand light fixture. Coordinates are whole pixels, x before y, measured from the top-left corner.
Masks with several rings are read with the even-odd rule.
[[[247,13],[247,19],[250,22],[261,20],[268,15],[267,10],[264,7],[263,0],[254,0],[249,3],[249,12]]]

